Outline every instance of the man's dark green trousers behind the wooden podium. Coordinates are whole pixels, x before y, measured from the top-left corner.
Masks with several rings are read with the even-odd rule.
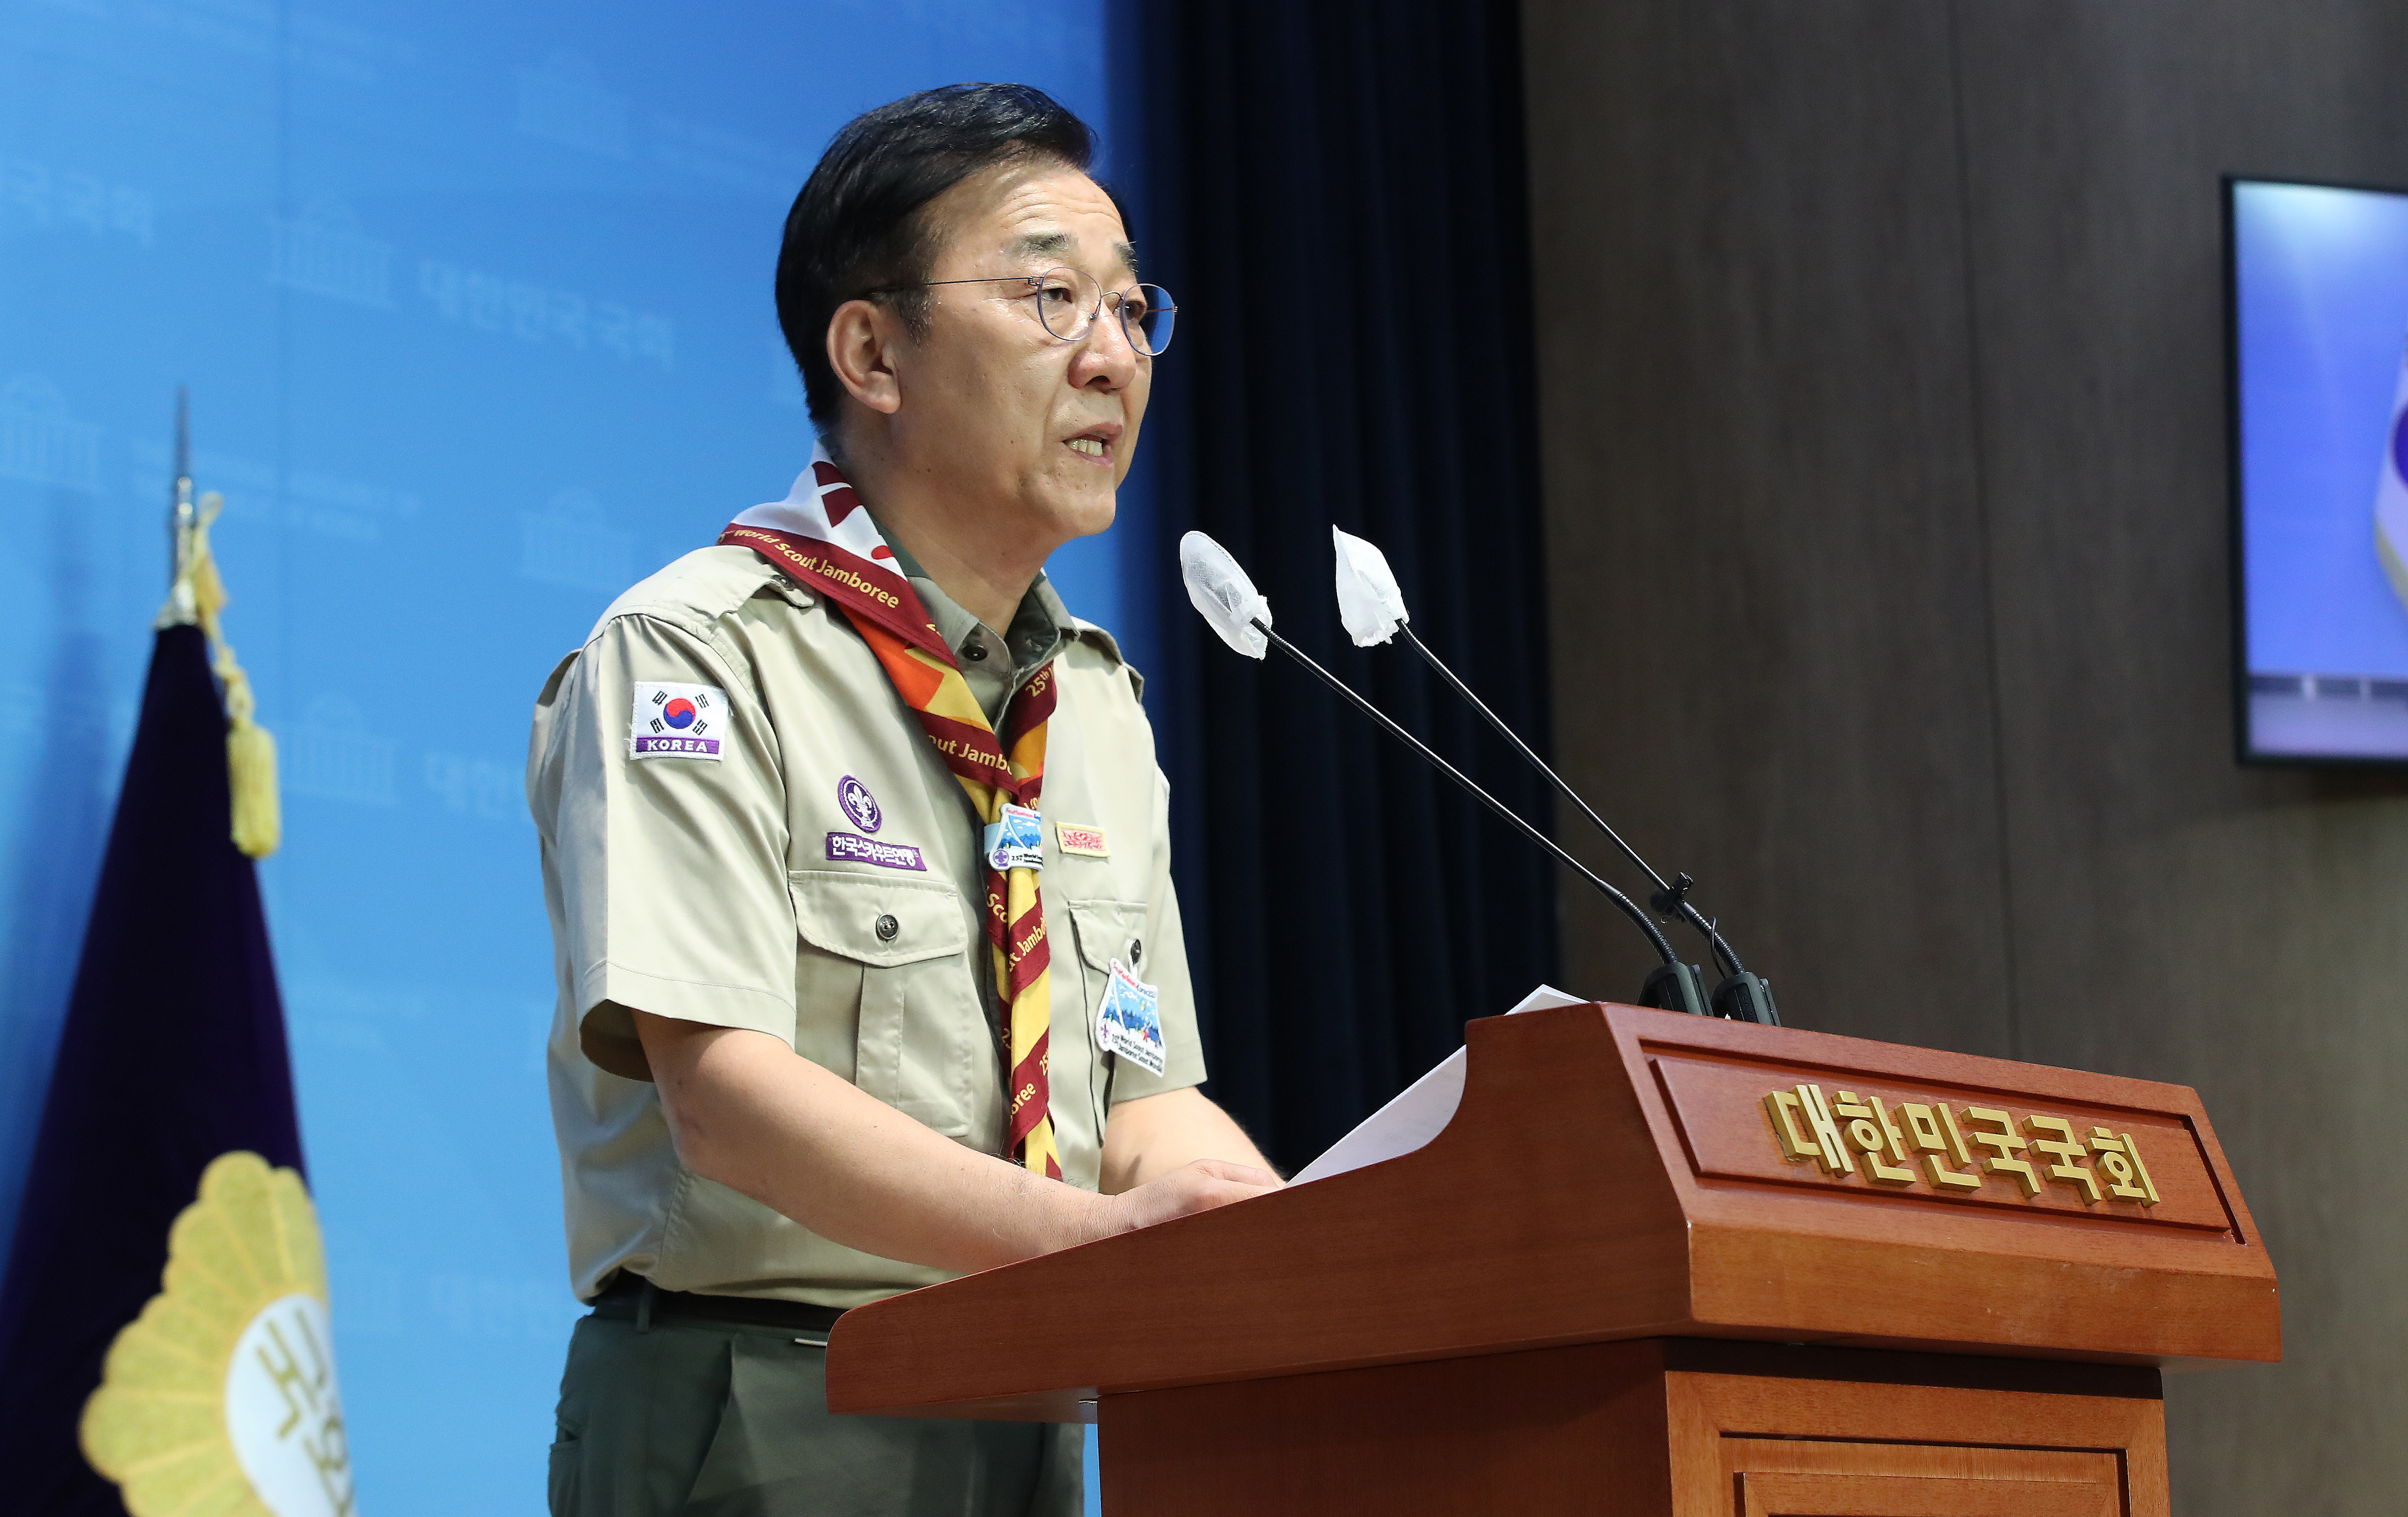
[[[824,1334],[585,1317],[551,1517],[1079,1517],[1084,1428],[828,1413]]]

